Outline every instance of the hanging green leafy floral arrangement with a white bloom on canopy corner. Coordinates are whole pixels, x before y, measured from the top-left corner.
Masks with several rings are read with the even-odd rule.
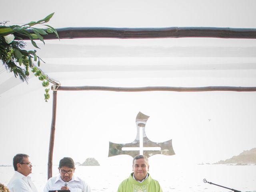
[[[22,26],[12,25],[6,26],[5,22],[0,22],[0,60],[2,60],[4,67],[8,72],[13,72],[22,82],[28,83],[29,68],[38,79],[42,81],[42,86],[46,87],[44,99],[50,98],[49,81],[47,76],[38,68],[41,62],[44,62],[36,55],[36,50],[24,50],[26,43],[22,41],[20,36],[27,36],[32,45],[39,48],[34,40],[38,39],[44,43],[44,35],[55,33],[59,38],[57,31],[50,25],[46,25],[54,13],[48,15],[46,18],[37,22],[32,21]],[[35,28],[35,25],[43,26],[43,28]],[[37,66],[34,64],[37,62]]]

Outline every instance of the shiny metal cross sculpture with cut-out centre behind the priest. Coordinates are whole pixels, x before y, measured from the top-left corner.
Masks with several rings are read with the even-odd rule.
[[[168,140],[162,143],[156,143],[150,141],[145,133],[145,126],[149,116],[139,112],[136,117],[137,136],[131,143],[117,144],[109,142],[108,156],[116,156],[121,154],[127,154],[132,157],[136,155],[144,155],[147,157],[155,154],[162,155],[174,155],[172,148],[172,140]]]

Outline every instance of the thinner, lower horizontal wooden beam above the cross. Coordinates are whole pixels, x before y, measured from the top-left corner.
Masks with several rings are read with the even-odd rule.
[[[256,87],[231,87],[231,86],[207,86],[207,87],[106,87],[106,86],[59,86],[62,91],[116,91],[116,92],[142,92],[142,91],[175,91],[175,92],[204,92],[204,91],[236,91],[254,92]]]

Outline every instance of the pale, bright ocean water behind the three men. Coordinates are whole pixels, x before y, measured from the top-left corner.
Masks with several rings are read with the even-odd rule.
[[[86,180],[94,192],[116,192],[118,185],[132,172],[132,166],[103,165],[77,166],[75,173]],[[0,166],[0,183],[7,185],[14,173],[12,166]],[[204,183],[208,182],[240,190],[256,192],[256,165],[166,164],[149,168],[152,178],[158,180],[164,192],[228,192],[231,190]],[[53,166],[53,175],[58,166]],[[34,165],[30,174],[38,191],[47,181],[47,166]]]

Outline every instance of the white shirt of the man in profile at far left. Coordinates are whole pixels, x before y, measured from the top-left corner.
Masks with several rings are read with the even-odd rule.
[[[7,187],[10,192],[37,192],[36,186],[33,184],[30,176],[24,176],[18,171],[14,172]]]

